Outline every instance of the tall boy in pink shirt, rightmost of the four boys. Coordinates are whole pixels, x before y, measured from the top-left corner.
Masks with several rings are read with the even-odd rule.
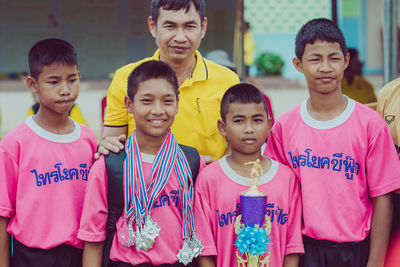
[[[306,23],[294,66],[310,97],[282,115],[266,154],[296,173],[303,198],[301,266],[383,266],[399,161],[383,119],[344,96],[344,37],[328,19]]]

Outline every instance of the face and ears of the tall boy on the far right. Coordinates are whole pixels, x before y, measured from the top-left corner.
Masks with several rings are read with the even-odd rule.
[[[302,59],[294,58],[293,64],[307,80],[310,94],[330,94],[341,90],[343,72],[349,55],[343,55],[339,43],[317,40],[307,44]]]

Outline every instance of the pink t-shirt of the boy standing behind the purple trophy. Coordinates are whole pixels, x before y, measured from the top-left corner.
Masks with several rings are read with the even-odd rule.
[[[249,186],[226,157],[199,174],[195,187],[195,224],[204,249],[201,255],[217,255],[217,266],[237,266],[234,223],[239,215],[240,193]],[[301,237],[301,197],[294,173],[272,160],[258,188],[267,193],[267,215],[272,223],[268,249],[270,267],[283,266],[284,256],[304,253]],[[240,253],[239,253],[240,254]]]

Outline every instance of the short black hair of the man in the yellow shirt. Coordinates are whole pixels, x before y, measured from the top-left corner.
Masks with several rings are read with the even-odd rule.
[[[197,12],[199,12],[201,22],[203,22],[204,17],[206,16],[205,0],[152,0],[151,17],[153,21],[157,23],[160,8],[173,11],[185,9],[185,11],[188,12],[192,3],[196,8]]]

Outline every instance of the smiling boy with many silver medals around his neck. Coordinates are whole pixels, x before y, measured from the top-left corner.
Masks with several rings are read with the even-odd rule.
[[[124,193],[117,196],[124,197],[124,210],[108,266],[183,266],[202,249],[194,229],[191,170],[170,130],[178,87],[174,71],[162,61],[144,62],[129,75],[125,104],[136,130],[125,145]],[[101,265],[109,167],[102,156],[90,172],[78,234],[85,241],[84,266]]]

